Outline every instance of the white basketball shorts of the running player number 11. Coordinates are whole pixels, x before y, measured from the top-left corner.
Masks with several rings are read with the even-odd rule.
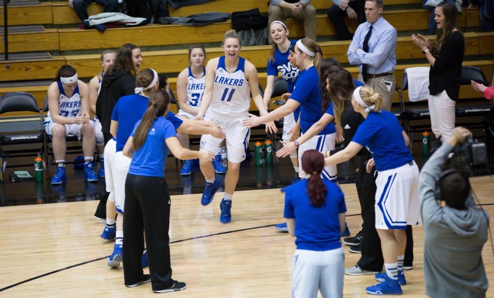
[[[216,122],[226,134],[226,149],[228,161],[240,163],[246,158],[246,150],[250,139],[250,129],[245,127],[242,120],[248,118],[248,114],[227,118],[213,112],[206,112],[205,120]],[[209,150],[215,154],[223,139],[211,135],[201,137],[200,149]]]

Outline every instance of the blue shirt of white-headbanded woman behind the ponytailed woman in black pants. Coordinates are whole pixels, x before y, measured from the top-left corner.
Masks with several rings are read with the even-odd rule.
[[[149,99],[139,94],[123,96],[117,101],[113,108],[112,120],[119,121],[117,128],[117,152],[124,149],[127,139],[134,129],[137,121],[142,119],[144,113],[148,109]],[[120,119],[120,120],[119,120]],[[183,120],[175,116],[174,113],[168,112],[166,119],[170,121],[175,130],[182,125]]]

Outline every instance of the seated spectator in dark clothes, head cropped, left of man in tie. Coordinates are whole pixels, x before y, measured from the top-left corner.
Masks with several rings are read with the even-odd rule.
[[[350,19],[357,19],[359,24],[366,21],[365,3],[366,0],[333,0],[334,5],[328,9],[328,17],[334,25],[336,36],[339,40],[350,40],[353,35],[348,31],[343,20],[345,16]]]

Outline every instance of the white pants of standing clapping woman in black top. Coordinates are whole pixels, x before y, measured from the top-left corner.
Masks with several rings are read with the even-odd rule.
[[[456,102],[452,100],[446,90],[436,95],[429,95],[429,112],[431,116],[432,132],[436,138],[447,142],[453,136]]]

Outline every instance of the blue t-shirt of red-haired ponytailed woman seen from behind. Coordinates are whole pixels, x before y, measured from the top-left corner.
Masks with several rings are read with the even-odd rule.
[[[285,194],[285,218],[295,219],[297,249],[327,251],[341,247],[338,215],[346,212],[345,196],[333,182],[323,180],[326,202],[321,207],[310,204],[308,181],[288,186]]]

